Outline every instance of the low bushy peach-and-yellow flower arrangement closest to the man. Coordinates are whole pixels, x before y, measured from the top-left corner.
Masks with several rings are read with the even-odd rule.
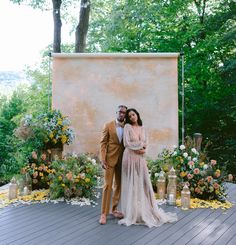
[[[50,173],[50,198],[93,198],[96,194],[98,165],[87,154],[68,155],[52,163]]]

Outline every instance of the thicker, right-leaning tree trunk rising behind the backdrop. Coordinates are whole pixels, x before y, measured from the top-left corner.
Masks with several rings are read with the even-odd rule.
[[[83,53],[89,26],[90,0],[81,0],[79,24],[75,32],[75,52]]]

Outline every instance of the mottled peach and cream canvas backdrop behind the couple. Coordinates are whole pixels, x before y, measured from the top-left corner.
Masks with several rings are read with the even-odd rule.
[[[116,107],[136,108],[148,132],[148,156],[178,144],[178,54],[53,54],[52,106],[72,122],[65,152],[98,153],[103,124]]]

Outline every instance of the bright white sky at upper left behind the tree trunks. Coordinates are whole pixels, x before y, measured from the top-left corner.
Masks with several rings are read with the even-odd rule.
[[[73,42],[69,27],[62,27],[62,41]],[[51,11],[0,0],[0,71],[22,71],[40,62],[40,51],[53,42]]]

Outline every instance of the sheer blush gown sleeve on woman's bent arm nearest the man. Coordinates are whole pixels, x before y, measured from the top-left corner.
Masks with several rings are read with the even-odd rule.
[[[124,127],[124,146],[130,150],[140,150],[144,146],[143,139],[141,140],[132,140],[132,128],[129,124],[126,124]]]

